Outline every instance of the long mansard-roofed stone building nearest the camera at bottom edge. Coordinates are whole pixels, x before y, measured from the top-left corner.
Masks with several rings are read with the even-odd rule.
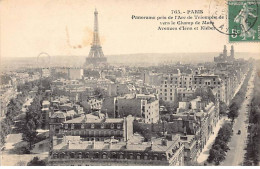
[[[49,165],[181,166],[184,143],[180,137],[143,143],[118,142],[113,138],[105,141],[64,138],[53,143],[48,161]]]

